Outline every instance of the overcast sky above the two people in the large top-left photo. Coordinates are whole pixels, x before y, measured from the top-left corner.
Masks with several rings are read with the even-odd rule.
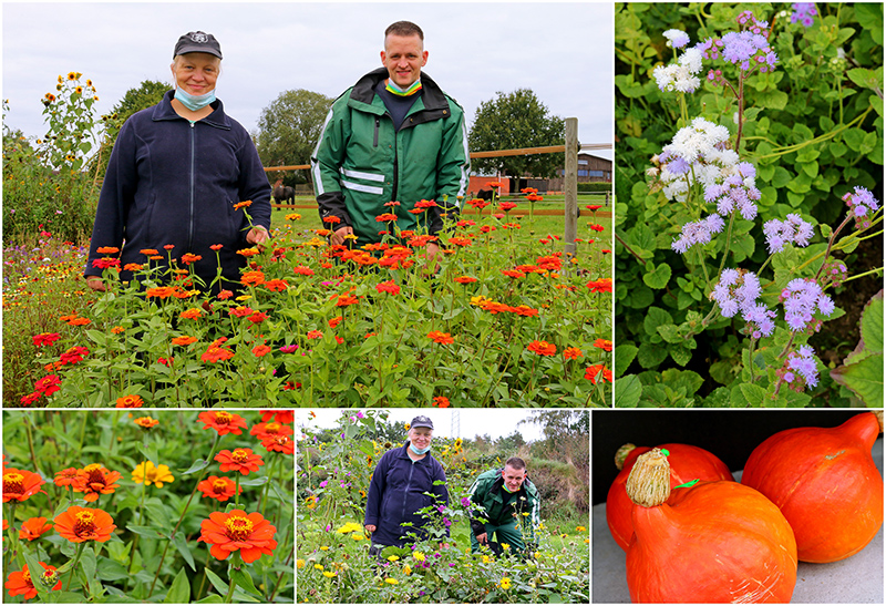
[[[581,143],[611,143],[612,7],[586,2],[3,2],[7,122],[43,136],[41,100],[71,71],[95,84],[99,114],[144,80],[172,83],[175,42],[202,30],[225,55],[217,95],[251,132],[281,92],[336,97],[381,66],[384,29],[398,20],[424,30],[424,71],[462,104],[468,125],[496,92],[528,88],[550,113],[578,119]]]

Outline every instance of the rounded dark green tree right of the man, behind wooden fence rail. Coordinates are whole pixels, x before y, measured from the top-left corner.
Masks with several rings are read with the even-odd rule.
[[[495,94],[495,99],[483,101],[477,107],[467,136],[471,150],[490,152],[563,145],[564,120],[550,115],[532,90],[517,89]],[[550,177],[563,166],[563,161],[556,154],[534,154],[474,158],[471,165],[474,171],[486,174],[501,172],[515,177],[525,174]]]

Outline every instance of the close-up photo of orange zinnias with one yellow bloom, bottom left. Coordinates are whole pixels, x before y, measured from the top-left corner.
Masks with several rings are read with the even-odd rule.
[[[292,411],[240,412],[6,412],[3,600],[291,604]]]

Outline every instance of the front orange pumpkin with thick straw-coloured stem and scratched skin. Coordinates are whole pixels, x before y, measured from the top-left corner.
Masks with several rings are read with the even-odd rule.
[[[668,459],[652,449],[633,465],[627,492],[635,503],[626,559],[631,602],[791,600],[794,533],[755,490],[718,481],[671,491]]]

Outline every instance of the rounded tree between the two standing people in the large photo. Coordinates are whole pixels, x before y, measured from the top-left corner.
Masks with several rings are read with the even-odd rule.
[[[323,120],[333,99],[305,89],[284,91],[258,119],[256,147],[265,166],[310,164],[311,152],[320,138]],[[284,173],[288,185],[295,172]],[[302,177],[300,183],[306,183]]]

